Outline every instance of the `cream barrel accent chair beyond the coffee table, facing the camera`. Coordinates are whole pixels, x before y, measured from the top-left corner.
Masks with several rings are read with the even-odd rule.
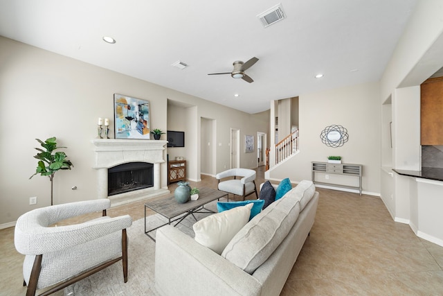
[[[215,175],[215,178],[219,180],[218,189],[227,193],[233,193],[233,195],[243,196],[243,200],[246,196],[255,193],[258,198],[257,188],[255,187],[255,176],[257,174],[254,170],[248,168],[231,168],[228,171],[224,171]],[[234,177],[234,179],[224,180],[226,177]],[[237,177],[242,177],[237,179]],[[229,195],[228,195],[229,201]]]

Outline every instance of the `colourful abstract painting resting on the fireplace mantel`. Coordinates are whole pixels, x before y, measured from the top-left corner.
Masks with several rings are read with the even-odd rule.
[[[114,94],[116,139],[150,139],[150,102]]]

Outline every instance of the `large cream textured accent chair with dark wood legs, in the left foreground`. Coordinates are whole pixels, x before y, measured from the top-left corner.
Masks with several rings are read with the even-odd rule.
[[[34,209],[19,217],[14,241],[17,251],[26,255],[26,295],[61,283],[41,295],[55,293],[120,260],[127,282],[126,228],[132,225],[132,218],[106,216],[110,206],[109,199],[71,202]],[[96,211],[102,211],[103,216],[77,225],[50,227],[66,218]]]

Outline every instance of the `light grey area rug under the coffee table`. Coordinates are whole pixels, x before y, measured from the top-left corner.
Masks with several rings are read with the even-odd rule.
[[[217,202],[210,202],[205,207],[217,211]],[[209,215],[197,213],[195,217],[200,220]],[[147,229],[152,229],[167,222],[168,219],[160,214],[146,218]],[[121,261],[119,261],[86,279],[66,287],[64,295],[158,295],[154,288],[155,243],[145,235],[144,223],[144,218],[141,218],[134,221],[131,227],[127,229],[129,238],[127,283],[123,282],[123,268]],[[192,230],[194,223],[195,218],[188,216],[177,225],[177,228],[194,237],[195,234]],[[156,231],[150,234],[155,237],[155,233]]]

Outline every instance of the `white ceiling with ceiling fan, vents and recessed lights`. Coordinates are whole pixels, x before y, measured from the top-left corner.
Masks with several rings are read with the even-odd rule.
[[[287,18],[264,28],[257,15],[278,3]],[[0,35],[256,113],[271,100],[379,80],[416,3],[0,0]],[[253,83],[207,75],[253,56]]]

